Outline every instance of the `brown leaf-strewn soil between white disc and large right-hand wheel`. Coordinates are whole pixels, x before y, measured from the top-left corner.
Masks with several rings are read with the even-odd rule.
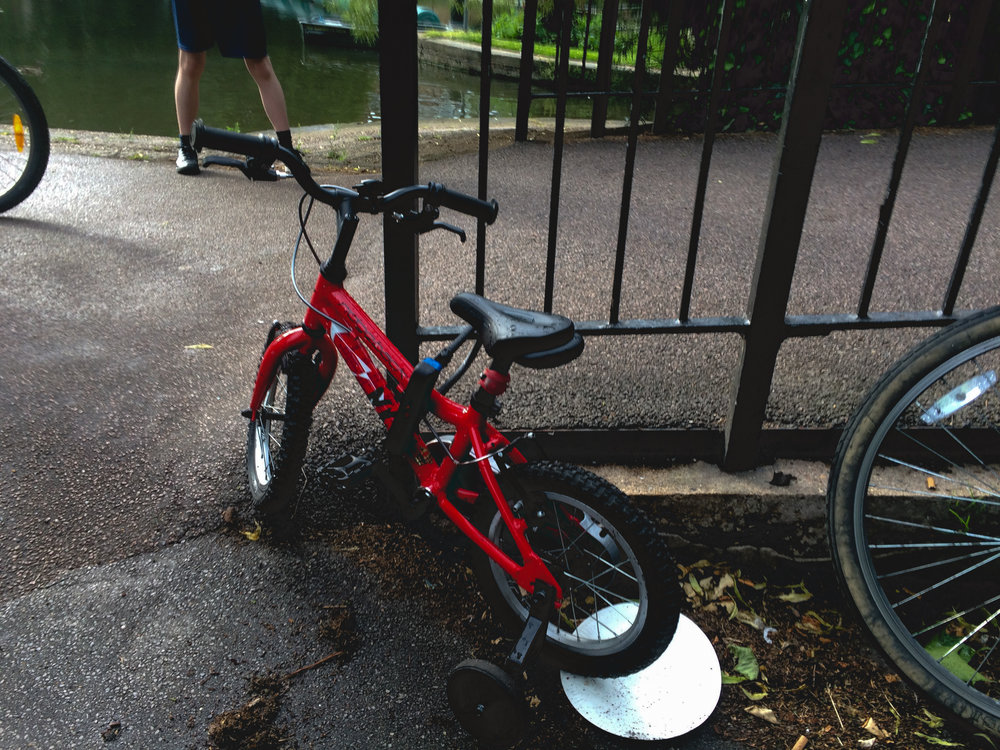
[[[869,647],[828,580],[707,561],[680,571],[687,614],[711,638],[729,683],[716,724],[728,739],[809,750],[993,747],[946,719]]]

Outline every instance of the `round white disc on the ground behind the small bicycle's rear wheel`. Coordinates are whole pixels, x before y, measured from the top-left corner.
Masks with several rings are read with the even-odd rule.
[[[631,613],[622,609],[618,605],[617,610],[601,610],[577,630],[595,637],[596,621],[603,630],[616,611],[627,615],[621,619],[624,626],[638,608]],[[562,685],[573,708],[605,732],[636,740],[666,740],[687,734],[712,715],[722,695],[722,670],[708,636],[681,615],[667,650],[641,672],[614,678],[563,672]]]

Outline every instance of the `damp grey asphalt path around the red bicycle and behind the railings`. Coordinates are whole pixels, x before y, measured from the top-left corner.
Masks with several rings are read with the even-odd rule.
[[[793,314],[856,304],[895,148],[862,140],[824,141]],[[744,310],[775,143],[717,144],[696,316]],[[985,132],[916,138],[875,308],[940,304],[988,147]],[[491,160],[501,215],[486,293],[510,304],[541,303],[550,153],[529,143]],[[695,140],[643,144],[623,317],[674,314],[699,158]],[[571,317],[607,315],[623,160],[620,143],[593,141],[564,162],[555,308]],[[421,177],[474,192],[474,164],[434,162]],[[288,276],[298,195],[290,181],[223,170],[185,179],[162,161],[57,153],[36,193],[0,216],[0,747],[93,747],[116,722],[119,746],[204,746],[206,722],[245,700],[248,675],[323,656],[323,607],[345,597],[366,613],[371,645],[332,682],[310,671],[289,691],[282,710],[300,746],[469,746],[442,687],[468,644],[439,627],[419,591],[386,598],[321,542],[283,550],[222,531],[224,511],[244,503],[239,411],[264,335],[271,320],[301,315]],[[378,224],[362,227],[348,282],[376,320]],[[329,218],[311,229],[329,247]],[[961,307],[997,302],[998,240],[994,199]],[[443,233],[422,242],[423,322],[453,322],[447,299],[473,286],[471,247]],[[308,289],[312,267],[303,269]],[[787,344],[769,423],[842,423],[919,335]],[[504,425],[718,426],[738,343],[594,339],[571,365],[515,379]],[[356,387],[338,379],[313,450],[369,447],[378,429]],[[623,746],[580,724],[592,746]],[[731,747],[709,730],[669,746]]]

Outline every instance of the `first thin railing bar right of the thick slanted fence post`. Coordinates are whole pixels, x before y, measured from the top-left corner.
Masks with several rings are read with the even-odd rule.
[[[872,244],[871,253],[868,256],[868,270],[865,273],[864,283],[861,288],[861,298],[858,300],[858,316],[865,317],[871,306],[872,294],[875,291],[875,280],[878,276],[879,266],[882,264],[882,254],[885,251],[885,242],[889,235],[889,223],[892,221],[892,213],[896,205],[896,195],[899,192],[899,185],[903,178],[903,166],[910,149],[910,140],[913,136],[913,129],[917,121],[917,113],[920,109],[924,92],[924,80],[927,78],[927,70],[930,67],[930,55],[937,41],[936,31],[943,24],[939,17],[940,5],[938,0],[933,0],[931,12],[927,18],[927,28],[924,32],[921,43],[920,57],[917,61],[917,70],[914,73],[913,86],[910,88],[909,101],[906,105],[906,114],[903,119],[903,127],[899,133],[899,143],[896,146],[896,156],[892,163],[892,173],[889,177],[889,185],[886,188],[885,199],[879,208],[878,224],[875,231],[875,241]],[[932,33],[935,34],[933,40]]]

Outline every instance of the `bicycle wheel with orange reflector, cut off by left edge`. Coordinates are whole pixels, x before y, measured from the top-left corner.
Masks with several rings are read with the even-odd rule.
[[[0,58],[0,212],[27,198],[49,163],[49,126],[21,74]]]

